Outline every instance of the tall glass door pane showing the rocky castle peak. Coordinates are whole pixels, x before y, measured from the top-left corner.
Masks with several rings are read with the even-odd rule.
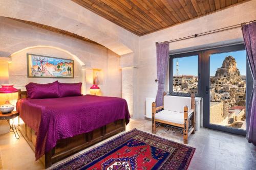
[[[246,51],[210,54],[209,67],[210,124],[245,130]]]

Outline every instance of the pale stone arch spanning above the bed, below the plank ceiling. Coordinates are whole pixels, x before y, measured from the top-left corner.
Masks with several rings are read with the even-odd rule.
[[[118,55],[133,52],[139,37],[70,0],[0,1],[0,16],[34,21],[96,41]]]

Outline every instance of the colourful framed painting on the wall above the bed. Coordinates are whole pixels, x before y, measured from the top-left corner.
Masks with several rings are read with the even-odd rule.
[[[74,78],[74,60],[27,54],[29,78]]]

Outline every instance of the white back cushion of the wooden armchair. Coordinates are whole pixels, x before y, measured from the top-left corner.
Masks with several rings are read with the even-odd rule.
[[[183,113],[184,106],[187,106],[188,110],[191,109],[191,98],[189,97],[165,95],[163,102],[164,110]]]

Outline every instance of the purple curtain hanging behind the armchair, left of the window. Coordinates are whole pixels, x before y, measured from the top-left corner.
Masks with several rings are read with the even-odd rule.
[[[168,52],[169,43],[157,44],[157,79],[158,79],[158,89],[156,96],[156,106],[163,105],[163,92],[164,92],[164,82],[168,66]]]

